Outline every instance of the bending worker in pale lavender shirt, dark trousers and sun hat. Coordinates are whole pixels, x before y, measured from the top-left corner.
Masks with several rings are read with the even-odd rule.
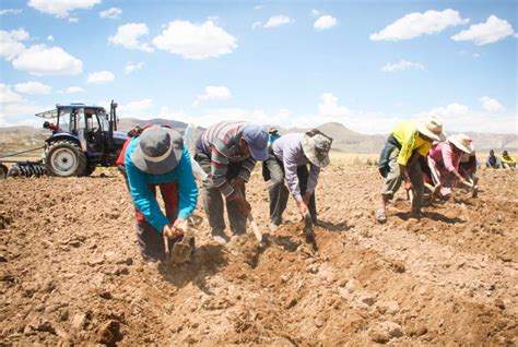
[[[270,180],[268,194],[271,231],[282,224],[282,214],[286,210],[289,191],[284,179],[301,215],[304,217],[309,213],[313,223],[317,223],[315,188],[320,168],[329,165],[331,143],[331,137],[316,129],[306,133],[287,134],[273,142],[268,160],[263,164],[268,169],[264,179]]]

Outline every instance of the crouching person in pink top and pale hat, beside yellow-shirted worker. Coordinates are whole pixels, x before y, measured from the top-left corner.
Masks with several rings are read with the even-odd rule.
[[[432,170],[434,186],[440,186],[439,198],[448,199],[452,189],[458,186],[457,183],[467,183],[459,172],[460,159],[462,154],[471,155],[473,151],[471,139],[464,134],[449,136],[445,142],[432,146],[428,154],[428,166]]]

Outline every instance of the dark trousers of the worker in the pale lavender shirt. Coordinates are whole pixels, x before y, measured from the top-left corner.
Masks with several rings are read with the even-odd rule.
[[[287,199],[290,192],[284,184],[284,165],[273,154],[270,153],[268,160],[262,164],[269,171],[267,177],[270,177],[268,184],[268,195],[270,198],[270,222],[280,225],[282,223],[282,214],[286,210]],[[307,180],[309,178],[309,170],[307,165],[297,167],[298,187],[301,194],[304,195],[307,187]],[[311,215],[313,223],[317,223],[317,205],[315,203],[315,193],[309,199],[309,214]]]

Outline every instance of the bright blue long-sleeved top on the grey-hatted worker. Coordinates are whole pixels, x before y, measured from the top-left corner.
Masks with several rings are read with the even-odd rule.
[[[148,188],[148,184],[177,182],[178,218],[187,219],[192,211],[195,211],[198,201],[198,187],[196,186],[195,176],[192,175],[189,152],[187,148],[184,148],[178,165],[169,172],[164,175],[150,175],[142,172],[133,161],[131,161],[131,154],[137,146],[138,137],[131,140],[125,156],[131,199],[145,219],[150,222],[156,230],[162,232],[168,219],[160,208],[158,202]]]

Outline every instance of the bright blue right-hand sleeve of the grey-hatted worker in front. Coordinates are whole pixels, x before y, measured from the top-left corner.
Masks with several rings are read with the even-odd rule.
[[[178,218],[187,219],[196,208],[198,187],[192,174],[189,152],[185,147],[175,170],[178,176]]]

